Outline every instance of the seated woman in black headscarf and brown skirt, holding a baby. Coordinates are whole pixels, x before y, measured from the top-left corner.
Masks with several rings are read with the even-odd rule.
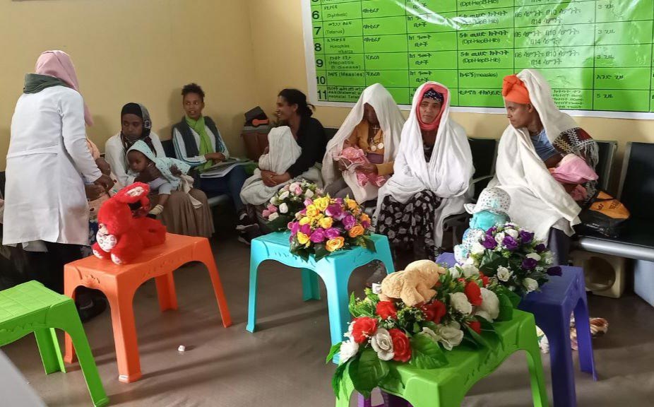
[[[165,157],[159,136],[152,132],[150,113],[143,105],[128,103],[121,110],[121,132],[112,136],[105,143],[105,159],[111,165],[118,181],[123,185],[133,182],[152,182],[161,173],[154,165],[141,172],[138,177],[127,174],[127,151],[136,141],[144,141],[157,157]],[[191,197],[202,205],[194,207]],[[157,216],[166,225],[168,232],[177,235],[210,237],[213,235],[213,218],[207,203],[207,196],[200,189],[191,189],[188,194],[184,191],[172,191],[166,207]]]

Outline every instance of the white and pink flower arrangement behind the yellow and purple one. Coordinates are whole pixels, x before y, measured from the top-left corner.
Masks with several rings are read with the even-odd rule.
[[[322,194],[322,189],[306,179],[286,184],[270,198],[261,216],[268,221],[270,229],[286,230],[287,224],[295,217],[295,213],[304,208],[304,200]]]

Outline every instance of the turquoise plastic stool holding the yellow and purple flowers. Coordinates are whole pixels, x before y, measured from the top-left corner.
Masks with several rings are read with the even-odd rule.
[[[376,252],[356,247],[335,252],[320,261],[316,261],[314,256],[310,256],[309,260],[304,260],[299,256],[295,256],[295,254],[291,254],[289,251],[289,237],[290,232],[275,232],[256,237],[251,242],[250,290],[246,329],[250,332],[254,332],[256,329],[258,266],[264,260],[275,260],[286,266],[302,269],[302,297],[304,301],[320,299],[316,274],[323,279],[327,288],[331,343],[339,343],[343,341],[343,334],[347,332],[347,323],[350,322],[350,311],[347,308],[350,302],[347,293],[347,281],[350,280],[352,271],[373,260],[384,263],[387,273],[395,271],[388,238],[382,235],[371,236],[375,243]]]

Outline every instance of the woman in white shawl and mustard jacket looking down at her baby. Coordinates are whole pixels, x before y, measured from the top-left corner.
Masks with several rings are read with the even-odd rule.
[[[375,83],[366,88],[327,143],[322,168],[327,193],[337,198],[350,196],[359,204],[376,199],[380,184],[393,175],[393,160],[404,122],[398,105],[384,86]],[[368,163],[348,165],[351,159],[339,158],[348,150],[362,151]],[[375,182],[375,178],[381,182]]]

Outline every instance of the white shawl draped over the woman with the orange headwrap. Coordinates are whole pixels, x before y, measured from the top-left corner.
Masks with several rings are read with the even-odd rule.
[[[538,71],[524,69],[518,73],[529,90],[535,107],[551,143],[566,130],[578,127],[576,122],[561,112],[552,99],[549,84]],[[509,216],[521,228],[533,230],[537,239],[547,241],[553,226],[573,235],[573,225],[581,208],[563,186],[549,174],[538,157],[527,129],[509,125],[499,141],[495,178],[489,187],[500,187],[511,196]]]

